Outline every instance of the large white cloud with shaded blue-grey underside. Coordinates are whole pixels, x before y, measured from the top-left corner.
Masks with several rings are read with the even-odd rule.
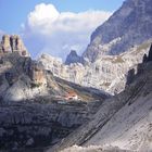
[[[27,23],[22,27],[29,49],[65,59],[69,49],[79,49],[77,51],[81,53],[89,42],[90,34],[110,15],[111,12],[92,10],[59,12],[52,4],[41,3],[28,14]]]

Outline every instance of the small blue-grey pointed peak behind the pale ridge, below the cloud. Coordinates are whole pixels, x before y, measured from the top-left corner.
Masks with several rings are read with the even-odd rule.
[[[83,56],[79,56],[75,50],[72,50],[67,55],[65,64],[69,65],[71,63],[81,63],[85,64],[85,60]]]

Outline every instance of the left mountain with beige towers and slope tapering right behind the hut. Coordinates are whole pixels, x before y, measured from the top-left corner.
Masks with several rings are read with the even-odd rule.
[[[26,55],[23,54],[25,47],[18,36],[3,36],[1,47],[0,102],[35,100],[38,97],[49,97],[52,101],[56,96],[64,100],[64,96],[69,91],[76,92],[83,101],[106,98],[106,94],[99,90],[55,78],[41,63],[27,56],[27,51]],[[60,61],[52,62],[53,66],[59,63]]]

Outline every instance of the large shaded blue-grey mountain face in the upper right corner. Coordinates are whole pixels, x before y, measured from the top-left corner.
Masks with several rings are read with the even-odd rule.
[[[152,38],[152,1],[126,0],[104,24],[91,35],[91,41],[84,52],[94,62],[103,54],[119,54],[135,45]]]

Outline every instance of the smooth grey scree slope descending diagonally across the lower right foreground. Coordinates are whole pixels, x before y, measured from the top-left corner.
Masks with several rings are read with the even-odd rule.
[[[104,147],[116,147],[131,152],[151,152],[152,62],[139,66],[142,66],[143,71],[138,72],[132,84],[119,94],[107,99],[92,121],[80,126],[47,152],[99,151],[98,147],[100,151],[104,150]],[[119,152],[118,149],[116,151]]]

